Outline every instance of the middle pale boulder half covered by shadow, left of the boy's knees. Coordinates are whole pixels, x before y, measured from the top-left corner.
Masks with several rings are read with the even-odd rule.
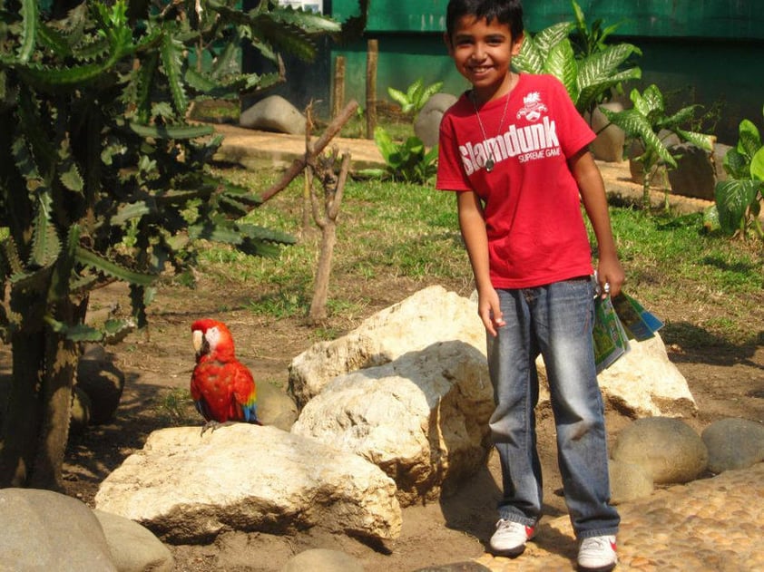
[[[493,389],[485,356],[459,341],[338,375],[300,413],[292,432],[357,453],[408,506],[436,499],[485,465]]]

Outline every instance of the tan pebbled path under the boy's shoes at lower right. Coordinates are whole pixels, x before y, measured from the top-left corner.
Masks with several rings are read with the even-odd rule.
[[[764,570],[764,463],[670,487],[619,506],[617,570]],[[484,555],[492,572],[571,570],[576,557],[567,517],[542,520],[524,554]]]

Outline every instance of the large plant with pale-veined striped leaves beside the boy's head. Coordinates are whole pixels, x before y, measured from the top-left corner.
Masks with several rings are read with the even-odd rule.
[[[601,24],[596,24],[588,31],[581,8],[575,2],[573,8],[576,23],[553,24],[533,36],[526,33],[512,64],[518,72],[554,75],[563,82],[576,109],[591,117],[597,105],[611,97],[613,89],[642,77],[642,70],[629,64],[642,52],[632,44],[605,44],[612,27],[602,30]],[[573,44],[569,37],[576,28],[584,38],[579,44]]]

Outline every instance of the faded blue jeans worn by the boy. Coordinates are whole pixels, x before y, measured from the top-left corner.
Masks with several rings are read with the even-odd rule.
[[[502,519],[534,526],[541,517],[541,464],[536,451],[538,373],[544,357],[557,430],[565,502],[577,538],[614,535],[607,435],[592,346],[594,286],[589,277],[547,286],[499,290],[506,325],[488,335],[488,369],[496,408],[491,432],[502,467]]]

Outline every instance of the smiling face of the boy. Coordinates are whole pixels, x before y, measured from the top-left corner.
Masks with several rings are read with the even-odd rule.
[[[454,34],[446,34],[448,54],[456,69],[472,83],[478,102],[501,97],[511,83],[512,56],[520,52],[523,36],[513,38],[508,24],[494,19],[465,15],[454,26]]]

